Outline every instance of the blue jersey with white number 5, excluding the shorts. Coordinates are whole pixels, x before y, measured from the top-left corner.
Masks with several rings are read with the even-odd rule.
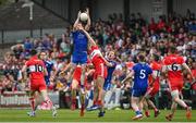
[[[134,71],[134,85],[133,89],[147,89],[148,75],[152,73],[152,70],[146,63],[137,63],[133,66]]]

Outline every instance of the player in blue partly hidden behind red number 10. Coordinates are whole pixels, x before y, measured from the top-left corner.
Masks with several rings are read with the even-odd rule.
[[[57,74],[56,67],[53,65],[53,63],[48,59],[48,54],[45,51],[41,51],[39,53],[39,58],[44,61],[48,75],[45,76],[45,81],[46,81],[46,85],[49,87],[50,86],[50,82],[53,82],[54,76]],[[53,74],[51,75],[51,72],[53,71]]]

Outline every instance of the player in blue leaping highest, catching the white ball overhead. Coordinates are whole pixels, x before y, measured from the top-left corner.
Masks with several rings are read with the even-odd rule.
[[[71,69],[70,74],[73,76],[73,72],[76,69],[77,65],[81,66],[82,74],[81,74],[81,99],[82,99],[82,106],[84,106],[85,102],[85,70],[86,70],[86,63],[87,63],[87,49],[88,49],[88,38],[85,35],[84,32],[81,30],[81,27],[83,27],[85,30],[88,30],[90,27],[90,17],[89,17],[89,11],[86,10],[86,13],[88,15],[87,23],[82,22],[79,20],[81,11],[78,12],[77,19],[73,25],[73,32],[71,34],[72,41],[71,41]],[[64,69],[66,70],[66,69]],[[70,77],[68,85],[71,85],[73,77]],[[76,89],[72,89],[72,97],[75,97]],[[72,100],[72,107],[74,107],[75,99]],[[84,108],[82,109],[84,112]]]

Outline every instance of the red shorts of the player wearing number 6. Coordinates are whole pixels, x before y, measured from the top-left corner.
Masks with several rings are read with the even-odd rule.
[[[183,81],[176,81],[176,82],[173,82],[169,84],[170,86],[170,89],[173,91],[173,90],[179,90],[181,91],[182,88],[183,88]]]

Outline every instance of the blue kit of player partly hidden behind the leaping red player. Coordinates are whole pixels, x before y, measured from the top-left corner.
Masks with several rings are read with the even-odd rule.
[[[112,66],[108,67],[108,75],[107,75],[107,78],[105,79],[105,85],[103,85],[105,90],[110,89],[112,75],[113,75],[113,72],[114,72],[115,66],[117,66],[117,63],[114,61],[109,61],[109,62],[112,64]]]

